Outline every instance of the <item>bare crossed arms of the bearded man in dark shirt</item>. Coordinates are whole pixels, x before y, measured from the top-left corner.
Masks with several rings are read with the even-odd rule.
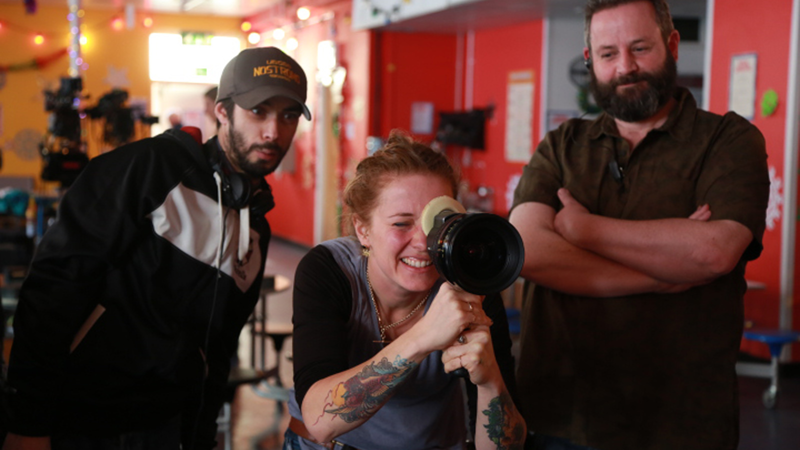
[[[753,239],[708,205],[685,219],[623,220],[591,214],[569,191],[564,207],[521,203],[511,211],[525,248],[522,276],[572,295],[679,292],[733,270]]]

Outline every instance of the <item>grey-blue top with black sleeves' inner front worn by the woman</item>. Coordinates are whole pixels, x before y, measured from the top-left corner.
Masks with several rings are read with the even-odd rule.
[[[326,241],[325,246],[350,282],[353,307],[347,323],[348,365],[354,367],[370,360],[381,350],[378,319],[366,284],[366,258],[354,238]],[[425,306],[438,292],[435,286]],[[290,395],[290,414],[302,420],[302,414]],[[462,380],[445,373],[442,352],[432,352],[395,392],[383,407],[360,427],[336,440],[359,450],[409,450],[466,448],[465,395]],[[323,450],[322,446],[300,439],[302,450]]]

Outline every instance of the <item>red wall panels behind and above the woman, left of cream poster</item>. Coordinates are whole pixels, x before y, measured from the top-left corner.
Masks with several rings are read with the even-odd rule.
[[[386,136],[392,128],[410,127],[412,102],[434,102],[435,110],[452,111],[455,86],[466,86],[466,44],[458,46],[459,37],[446,34],[381,34],[378,83],[380,96],[375,103],[380,110],[378,131]],[[461,39],[466,40],[465,37]],[[460,49],[460,50],[459,50]],[[464,52],[458,55],[458,51]],[[457,79],[456,63],[465,66]],[[486,149],[466,150],[450,146],[446,153],[462,167],[464,179],[474,190],[478,186],[494,190],[494,211],[507,214],[506,191],[512,175],[522,171],[523,163],[508,163],[505,158],[506,89],[510,72],[534,72],[534,102],[531,135],[538,136],[538,111],[541,95],[539,68],[542,66],[542,22],[529,22],[474,33],[474,73],[471,108],[494,106],[492,119],[486,122]],[[470,106],[470,105],[466,105]],[[463,106],[462,106],[463,109]],[[438,115],[435,125],[438,126]],[[435,129],[435,126],[434,126]],[[430,141],[433,135],[417,135]],[[535,138],[534,138],[535,139]],[[533,144],[535,145],[535,143]],[[532,147],[533,147],[532,145]],[[533,148],[531,148],[533,151]]]

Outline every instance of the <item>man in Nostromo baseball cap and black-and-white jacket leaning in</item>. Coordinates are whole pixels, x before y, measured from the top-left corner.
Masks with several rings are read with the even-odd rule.
[[[306,88],[281,50],[242,50],[217,136],[184,127],[90,161],[20,289],[4,449],[215,447],[270,240],[264,177],[311,118]]]

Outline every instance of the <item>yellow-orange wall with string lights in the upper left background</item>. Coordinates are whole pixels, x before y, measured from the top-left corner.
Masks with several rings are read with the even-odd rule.
[[[70,30],[67,21],[67,6],[39,5],[36,14],[25,14],[22,2],[0,3],[0,66],[30,62],[69,45]],[[239,18],[222,18],[190,14],[152,14],[154,26],[147,30],[141,26],[143,15],[137,15],[137,24],[131,30],[114,31],[109,22],[122,10],[86,10],[82,19],[83,33],[89,39],[82,48],[82,57],[89,68],[82,73],[84,92],[90,94],[86,100],[94,106],[98,98],[114,87],[110,79],[123,79],[130,98],[150,99],[150,77],[148,74],[148,37],[151,32],[178,33],[180,31],[202,31],[218,35],[236,36],[246,42],[239,30]],[[46,42],[35,46],[34,32],[46,34]],[[0,87],[0,147],[3,149],[3,167],[0,175],[32,176],[37,179],[37,188],[47,190],[54,183],[38,180],[41,158],[38,154],[19,155],[14,143],[25,135],[22,131],[42,135],[47,129],[48,113],[44,110],[44,89],[58,89],[58,79],[66,76],[69,58],[62,56],[41,70],[10,70],[4,76],[5,85]],[[2,76],[2,75],[0,75]],[[98,153],[96,137],[98,126],[87,127],[90,155]],[[138,136],[142,137],[142,136]],[[23,146],[28,148],[29,146]]]

